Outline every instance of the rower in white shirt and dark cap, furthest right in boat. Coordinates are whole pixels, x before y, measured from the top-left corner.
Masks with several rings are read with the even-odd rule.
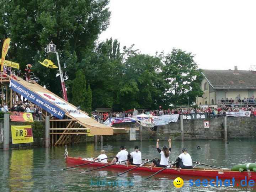
[[[176,167],[180,167],[181,169],[192,169],[192,159],[190,154],[187,153],[187,148],[183,147],[181,149],[182,153],[178,156],[174,165]]]

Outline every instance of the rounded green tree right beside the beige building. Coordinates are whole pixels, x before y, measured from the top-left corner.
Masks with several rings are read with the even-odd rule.
[[[164,58],[162,74],[165,79],[165,94],[167,100],[174,103],[175,107],[186,104],[187,96],[195,98],[202,95],[202,91],[198,89],[200,78],[196,80],[201,76],[201,71],[197,69],[193,58],[192,53],[176,48]]]

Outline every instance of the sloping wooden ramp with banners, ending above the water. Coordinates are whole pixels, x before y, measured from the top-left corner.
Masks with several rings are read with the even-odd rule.
[[[17,76],[16,78],[10,78],[10,89],[51,114],[50,140],[52,145],[76,143],[84,134],[113,135],[112,127],[98,123],[87,113],[77,110],[74,105],[44,89],[36,82],[27,82]]]

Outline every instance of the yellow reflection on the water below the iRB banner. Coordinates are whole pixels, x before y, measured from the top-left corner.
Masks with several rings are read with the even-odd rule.
[[[33,150],[12,150],[9,185],[11,191],[30,191],[32,181]]]

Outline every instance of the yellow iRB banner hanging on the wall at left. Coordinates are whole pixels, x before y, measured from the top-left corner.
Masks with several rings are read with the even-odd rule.
[[[33,133],[31,126],[11,126],[12,144],[33,143]]]

